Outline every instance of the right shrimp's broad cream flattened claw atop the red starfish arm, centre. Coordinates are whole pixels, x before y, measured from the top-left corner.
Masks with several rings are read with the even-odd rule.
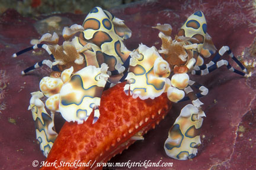
[[[171,69],[156,48],[140,44],[130,55],[132,58],[126,77],[127,84],[124,86],[126,94],[130,93],[133,98],[145,100],[155,99],[164,93]]]

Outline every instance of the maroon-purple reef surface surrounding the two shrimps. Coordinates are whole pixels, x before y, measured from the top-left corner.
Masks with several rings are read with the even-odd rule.
[[[152,26],[157,23],[171,24],[174,37],[185,19],[193,12],[201,10],[207,19],[207,32],[212,36],[216,47],[231,47],[233,54],[248,64],[248,70],[252,72],[252,76],[245,79],[222,67],[207,76],[191,76],[191,79],[209,89],[209,94],[200,99],[204,103],[203,109],[207,117],[201,131],[202,145],[196,158],[177,161],[168,158],[163,149],[169,128],[180,114],[180,110],[188,104],[183,102],[174,104],[168,116],[145,135],[145,140],[137,141],[110,162],[173,162],[172,167],[148,169],[255,169],[255,8],[255,1],[192,0],[140,2],[110,9],[116,17],[123,19],[133,32],[132,38],[126,41],[129,50],[136,49],[140,43],[149,47],[155,45],[159,49],[161,40],[158,38],[158,31],[152,29]],[[57,21],[56,28],[50,28],[49,23],[43,20],[52,16],[61,18],[60,22]],[[82,24],[85,16],[57,14],[24,18],[12,9],[1,15],[0,169],[39,169],[34,168],[32,162],[45,159],[36,142],[33,118],[27,108],[30,93],[39,90],[40,79],[47,76],[50,70],[43,67],[27,76],[21,76],[20,73],[37,61],[49,58],[49,55],[43,50],[37,50],[36,53],[30,51],[17,58],[12,58],[11,55],[30,47],[30,40],[39,39],[40,34],[49,30],[62,31],[65,24]],[[228,55],[223,58],[229,60]],[[231,63],[235,66],[235,63]],[[56,116],[56,122],[56,128],[60,130],[63,123],[60,115]]]

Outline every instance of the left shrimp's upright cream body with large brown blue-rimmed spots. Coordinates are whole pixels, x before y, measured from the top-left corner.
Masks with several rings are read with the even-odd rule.
[[[124,46],[123,40],[130,38],[132,31],[123,24],[121,19],[99,7],[89,12],[82,26],[84,31],[79,38],[101,48],[102,55],[98,63],[104,62],[110,67],[108,74],[112,76],[111,81],[117,83],[129,67],[131,51]]]

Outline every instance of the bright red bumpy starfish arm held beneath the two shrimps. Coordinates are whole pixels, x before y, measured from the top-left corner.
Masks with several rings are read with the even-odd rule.
[[[63,125],[45,161],[56,161],[56,166],[44,166],[41,170],[73,168],[63,167],[60,163],[62,161],[89,162],[89,167],[78,169],[102,169],[94,163],[107,162],[127,149],[136,141],[131,139],[132,136],[142,137],[148,130],[155,128],[171,109],[172,104],[166,93],[154,100],[141,100],[139,97],[133,99],[124,93],[124,85],[125,82],[103,92],[101,116],[96,123],[92,124],[93,117],[90,116],[81,125],[76,122]]]

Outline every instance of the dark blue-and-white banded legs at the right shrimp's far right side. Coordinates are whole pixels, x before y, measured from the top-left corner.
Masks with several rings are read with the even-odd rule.
[[[238,66],[242,69],[242,71],[239,71],[239,70],[236,70],[235,68],[233,68],[226,60],[218,61],[220,59],[220,57],[222,57],[223,54],[225,54],[225,53],[229,54],[229,56],[232,58],[232,60],[235,61],[236,64],[238,64]],[[191,73],[203,76],[203,75],[209,74],[213,70],[216,70],[217,68],[219,68],[223,65],[228,67],[229,70],[233,71],[236,74],[239,74],[239,75],[245,76],[245,77],[247,76],[247,74],[246,74],[247,69],[233,55],[232,51],[229,49],[228,46],[223,46],[222,48],[220,48],[219,52],[215,55],[215,57],[212,59],[212,61],[210,61],[208,64],[204,64],[202,66],[195,66],[194,70],[192,70]]]

